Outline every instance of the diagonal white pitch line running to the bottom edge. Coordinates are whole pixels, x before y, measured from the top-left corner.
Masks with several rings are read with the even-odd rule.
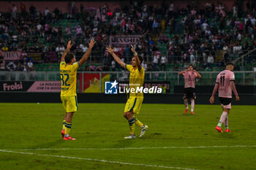
[[[102,160],[102,159],[79,158],[79,157],[63,156],[63,155],[46,155],[46,154],[31,153],[31,152],[17,152],[17,151],[13,151],[13,150],[0,150],[0,152],[10,152],[10,153],[23,154],[23,155],[37,155],[37,156],[55,157],[55,158],[69,158],[69,159],[78,159],[78,160],[85,160],[85,161],[96,161],[96,162],[104,162],[104,163],[117,163],[117,164],[122,164],[122,165],[131,165],[131,166],[146,166],[146,167],[164,168],[164,169],[196,170],[196,169],[187,169],[187,168],[174,167],[174,166],[160,166],[160,165],[150,165],[150,164],[144,164],[144,163],[128,163],[128,162],[119,162],[119,161],[107,161],[107,160]]]

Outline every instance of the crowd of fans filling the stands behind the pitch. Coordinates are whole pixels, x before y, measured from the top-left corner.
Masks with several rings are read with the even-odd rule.
[[[243,3],[236,1],[228,10],[221,2],[207,2],[199,8],[192,1],[186,8],[176,9],[175,1],[168,4],[164,1],[159,7],[129,1],[115,11],[106,4],[105,20],[99,18],[97,9],[74,2],[68,4],[67,13],[57,7],[39,12],[33,4],[28,8],[22,3],[18,12],[13,4],[10,12],[0,13],[0,47],[4,52],[42,53],[43,62],[58,62],[48,60],[48,55],[60,58],[69,39],[75,44],[72,51],[79,58],[88,49],[89,39],[94,38],[97,45],[91,54],[91,66],[85,70],[108,71],[118,67],[105,53],[109,36],[140,34],[143,36],[135,50],[145,59],[146,70],[166,70],[167,64],[173,64],[173,70],[178,71],[190,63],[197,69],[211,70],[255,48],[256,4],[248,1],[246,9],[242,9]],[[75,26],[64,26],[61,20],[69,20]],[[132,57],[129,46],[117,46],[115,53],[127,63]],[[255,63],[255,59],[252,53],[245,63]],[[31,58],[21,55],[20,61],[13,63],[18,66],[12,68],[34,70],[31,63]]]

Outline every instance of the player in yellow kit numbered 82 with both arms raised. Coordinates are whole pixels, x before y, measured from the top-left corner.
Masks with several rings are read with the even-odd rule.
[[[61,77],[61,101],[66,110],[66,115],[63,120],[63,128],[61,135],[64,140],[75,140],[70,134],[72,117],[74,112],[78,110],[78,98],[76,93],[77,88],[77,70],[89,58],[91,48],[94,47],[94,39],[91,39],[89,49],[80,59],[76,62],[74,53],[69,53],[72,47],[71,41],[67,44],[67,49],[61,56],[60,77]]]

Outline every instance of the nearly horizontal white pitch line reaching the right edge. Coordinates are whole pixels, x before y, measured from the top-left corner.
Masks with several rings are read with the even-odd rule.
[[[154,150],[154,149],[204,149],[204,148],[256,147],[256,145],[197,146],[197,147],[121,147],[121,148],[36,148],[26,150]]]

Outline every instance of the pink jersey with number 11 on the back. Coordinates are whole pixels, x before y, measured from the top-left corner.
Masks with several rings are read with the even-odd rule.
[[[216,83],[219,84],[219,97],[232,98],[230,81],[235,81],[235,74],[224,70],[217,75]]]

